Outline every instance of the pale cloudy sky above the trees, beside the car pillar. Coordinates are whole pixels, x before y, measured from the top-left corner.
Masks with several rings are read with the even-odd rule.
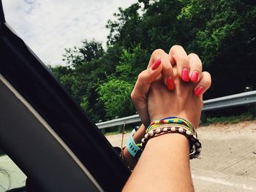
[[[7,23],[45,63],[64,65],[64,48],[107,41],[108,19],[137,0],[2,0]]]

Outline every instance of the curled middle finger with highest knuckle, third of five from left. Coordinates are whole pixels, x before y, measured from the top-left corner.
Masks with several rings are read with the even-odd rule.
[[[180,45],[174,45],[170,48],[169,57],[170,63],[175,62],[177,65],[178,77],[189,82],[189,57],[184,48]]]

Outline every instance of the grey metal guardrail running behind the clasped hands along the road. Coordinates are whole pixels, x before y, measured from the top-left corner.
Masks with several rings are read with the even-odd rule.
[[[238,93],[230,96],[222,96],[216,99],[208,99],[203,101],[203,112],[210,110],[219,110],[227,107],[236,107],[241,105],[256,104],[256,91],[249,91],[245,93]],[[113,126],[121,126],[124,123],[138,123],[140,122],[139,115],[132,115],[124,118],[108,120],[101,123],[96,123],[98,128],[108,128]]]

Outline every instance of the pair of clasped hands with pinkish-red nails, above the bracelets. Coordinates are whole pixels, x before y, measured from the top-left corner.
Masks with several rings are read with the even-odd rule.
[[[159,62],[160,61],[160,62]],[[155,50],[148,68],[141,72],[131,97],[144,125],[153,120],[178,116],[192,122],[200,121],[203,93],[211,85],[211,75],[202,72],[200,58],[187,55],[175,45],[169,54]]]

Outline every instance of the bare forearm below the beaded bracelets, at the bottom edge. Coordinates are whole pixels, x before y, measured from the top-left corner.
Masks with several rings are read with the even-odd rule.
[[[123,191],[194,191],[188,139],[181,134],[149,139]]]

